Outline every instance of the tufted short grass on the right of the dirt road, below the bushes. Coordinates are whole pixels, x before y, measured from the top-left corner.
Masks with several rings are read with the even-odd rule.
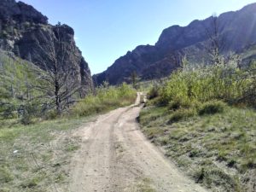
[[[145,135],[164,148],[166,156],[196,183],[212,191],[253,192],[256,111],[222,102],[214,106],[219,108],[204,104],[197,110],[199,115],[191,108],[149,105],[143,108],[139,121]]]

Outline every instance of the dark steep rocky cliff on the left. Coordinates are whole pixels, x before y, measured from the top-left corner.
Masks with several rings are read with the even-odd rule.
[[[0,1],[0,49],[13,52],[45,69],[52,66],[47,56],[57,54],[56,47],[60,41],[63,44],[61,55],[65,57],[63,68],[73,73],[73,79],[68,80],[81,86],[80,95],[84,96],[92,89],[93,83],[88,63],[75,44],[73,28],[50,25],[46,16],[26,3]]]

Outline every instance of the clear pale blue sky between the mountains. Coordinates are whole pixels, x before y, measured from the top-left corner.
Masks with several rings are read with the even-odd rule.
[[[113,61],[140,44],[155,44],[169,26],[186,26],[241,9],[256,0],[21,0],[55,25],[72,26],[76,43],[91,73],[101,73]]]

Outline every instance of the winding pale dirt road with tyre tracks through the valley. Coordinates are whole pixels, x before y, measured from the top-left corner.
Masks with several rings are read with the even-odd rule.
[[[145,139],[136,122],[136,104],[102,115],[76,133],[82,147],[73,157],[70,191],[207,191]]]

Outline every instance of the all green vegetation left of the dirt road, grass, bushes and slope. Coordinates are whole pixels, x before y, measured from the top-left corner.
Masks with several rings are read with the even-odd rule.
[[[36,89],[40,72],[0,52],[0,192],[68,190],[70,160],[81,143],[73,131],[91,121],[88,116],[130,105],[137,96],[128,84],[105,84],[58,116]]]

